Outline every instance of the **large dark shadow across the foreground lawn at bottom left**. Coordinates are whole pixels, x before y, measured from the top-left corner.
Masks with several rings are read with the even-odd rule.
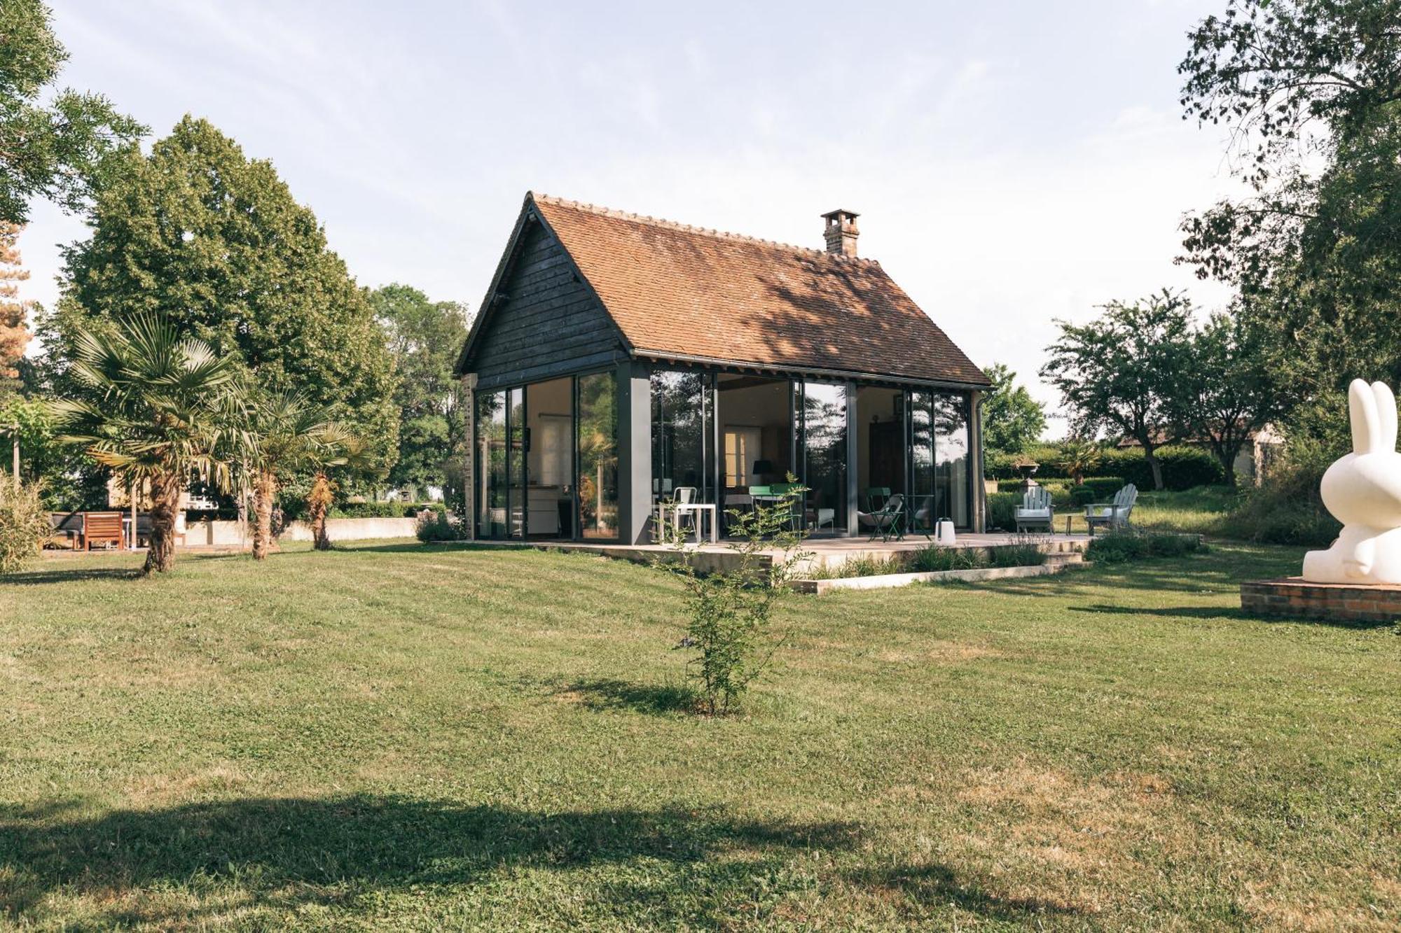
[[[353,906],[349,902],[374,891],[471,885],[521,869],[607,863],[678,876],[661,904],[651,894],[651,902],[614,909],[633,912],[639,922],[671,911],[679,919],[724,911],[729,895],[755,877],[773,877],[792,852],[849,850],[860,842],[852,824],[750,821],[682,806],[534,813],[356,794],[119,810],[95,818],[69,813],[0,810],[0,905],[8,919],[53,919],[49,898],[57,895],[59,902],[84,897],[109,904],[104,923],[163,925],[192,919],[199,908],[175,905],[202,895],[237,895],[277,909]],[[651,867],[643,869],[647,863]],[[703,877],[689,885],[692,874]],[[607,883],[559,878],[566,897],[576,884]],[[168,909],[157,892],[172,895]],[[0,918],[6,915],[0,909]],[[720,922],[712,918],[708,925]]]

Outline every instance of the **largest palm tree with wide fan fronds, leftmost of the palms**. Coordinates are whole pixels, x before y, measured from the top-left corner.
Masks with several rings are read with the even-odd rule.
[[[73,377],[91,398],[60,399],[52,409],[60,438],[83,444],[123,485],[150,485],[151,546],[143,574],[175,560],[175,513],[186,481],[198,475],[228,489],[238,445],[237,357],[214,356],[203,340],[182,338],[154,314],[119,324],[111,335],[83,331]]]

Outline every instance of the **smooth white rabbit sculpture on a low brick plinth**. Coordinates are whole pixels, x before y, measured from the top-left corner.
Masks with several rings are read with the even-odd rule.
[[[1397,399],[1383,382],[1348,388],[1352,452],[1323,475],[1323,504],[1342,523],[1327,551],[1304,555],[1310,583],[1401,584]]]

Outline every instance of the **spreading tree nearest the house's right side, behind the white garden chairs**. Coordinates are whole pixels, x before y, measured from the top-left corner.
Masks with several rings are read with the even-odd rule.
[[[1154,489],[1163,488],[1156,451],[1175,427],[1191,314],[1191,301],[1168,289],[1133,304],[1111,301],[1089,324],[1056,321],[1061,336],[1041,367],[1065,399],[1076,434],[1108,430],[1143,445]]]

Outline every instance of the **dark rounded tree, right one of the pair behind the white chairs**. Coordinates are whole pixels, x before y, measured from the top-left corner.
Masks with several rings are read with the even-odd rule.
[[[1191,335],[1184,363],[1177,420],[1210,445],[1234,486],[1236,457],[1279,412],[1261,335],[1243,315],[1215,314]]]

